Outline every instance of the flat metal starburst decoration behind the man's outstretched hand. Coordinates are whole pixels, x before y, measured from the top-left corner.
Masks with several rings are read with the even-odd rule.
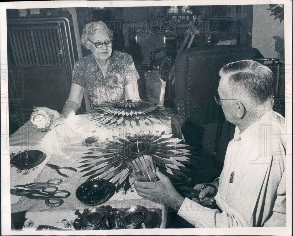
[[[149,155],[160,170],[169,177],[181,179],[186,177],[183,171],[190,171],[183,163],[190,163],[190,151],[183,149],[181,139],[172,138],[172,134],[135,134],[124,137],[113,136],[113,140],[104,143],[104,147],[90,148],[79,168],[85,172],[82,177],[88,180],[100,178],[115,184],[117,192],[123,187],[125,192],[131,187],[134,178],[130,175],[131,162]]]

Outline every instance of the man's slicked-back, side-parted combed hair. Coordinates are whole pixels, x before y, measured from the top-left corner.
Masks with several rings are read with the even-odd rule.
[[[272,71],[265,65],[251,60],[231,62],[224,66],[219,75],[228,75],[234,88],[245,91],[259,104],[273,103],[275,79]],[[234,93],[237,91],[234,91]]]

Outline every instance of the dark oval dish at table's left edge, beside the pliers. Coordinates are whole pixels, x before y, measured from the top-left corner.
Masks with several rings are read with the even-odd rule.
[[[10,159],[10,164],[20,170],[38,166],[46,159],[46,154],[39,150],[28,150],[16,154]]]

